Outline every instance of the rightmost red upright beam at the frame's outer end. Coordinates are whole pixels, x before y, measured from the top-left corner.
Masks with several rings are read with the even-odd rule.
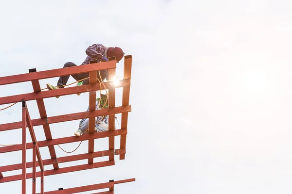
[[[132,69],[132,55],[125,56],[124,60],[124,79],[131,79],[131,69]],[[123,87],[123,98],[122,106],[127,106],[129,104],[130,86]],[[128,128],[128,113],[122,113],[121,128]],[[127,135],[121,135],[120,148],[126,147]],[[125,160],[125,154],[120,155],[120,160]]]

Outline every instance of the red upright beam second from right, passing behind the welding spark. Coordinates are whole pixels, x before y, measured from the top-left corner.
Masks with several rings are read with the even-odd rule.
[[[111,57],[109,60],[115,60],[115,57]],[[114,80],[116,78],[115,69],[109,69],[109,80]],[[109,89],[109,109],[115,107],[115,88]],[[115,127],[115,114],[109,114],[109,130],[114,130]],[[109,149],[114,149],[114,136],[109,137]],[[109,156],[109,160],[114,160],[114,155]],[[111,191],[111,190],[110,190]]]

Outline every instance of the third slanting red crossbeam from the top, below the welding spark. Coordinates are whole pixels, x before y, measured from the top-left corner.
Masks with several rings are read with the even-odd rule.
[[[38,119],[33,119],[32,124],[35,127],[39,125],[60,123],[60,122],[78,120],[82,118],[89,118],[92,116],[102,116],[102,115],[117,114],[117,113],[123,113],[123,112],[131,112],[131,106],[130,105],[120,106],[120,107],[115,107],[111,110],[102,109],[102,110],[97,110],[97,111],[92,111],[92,112],[87,111],[87,112],[81,112],[81,113],[71,113],[71,114],[52,116],[52,117],[47,117],[47,118],[38,118]],[[14,122],[14,123],[1,124],[0,131],[19,129],[21,128],[21,126],[22,126],[21,121]]]

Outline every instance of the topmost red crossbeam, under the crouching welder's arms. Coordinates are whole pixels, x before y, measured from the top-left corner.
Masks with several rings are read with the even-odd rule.
[[[98,71],[116,68],[115,61],[103,62],[103,63],[95,63],[91,65],[79,65],[73,67],[52,69],[46,71],[18,74],[13,76],[5,76],[0,77],[0,85],[11,84],[11,83],[19,83],[25,81],[32,80],[42,80],[48,78],[55,78],[67,75],[74,75],[79,73],[88,73],[90,71]]]

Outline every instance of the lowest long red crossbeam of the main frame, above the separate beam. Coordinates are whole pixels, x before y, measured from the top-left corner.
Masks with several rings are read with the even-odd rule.
[[[80,171],[80,170],[87,170],[87,169],[100,168],[100,167],[105,167],[105,166],[112,166],[114,164],[115,164],[114,161],[94,162],[91,164],[81,164],[81,165],[77,165],[77,166],[58,168],[56,170],[55,169],[45,170],[43,172],[44,172],[44,176],[51,176],[51,175],[75,172],[75,171]],[[26,176],[26,178],[32,178],[32,173],[27,173],[24,175]],[[37,172],[37,177],[40,177],[40,176],[41,176],[41,171]],[[8,176],[8,177],[3,177],[3,178],[0,178],[0,183],[21,180],[21,178],[22,178],[21,175],[13,175],[13,176]]]

